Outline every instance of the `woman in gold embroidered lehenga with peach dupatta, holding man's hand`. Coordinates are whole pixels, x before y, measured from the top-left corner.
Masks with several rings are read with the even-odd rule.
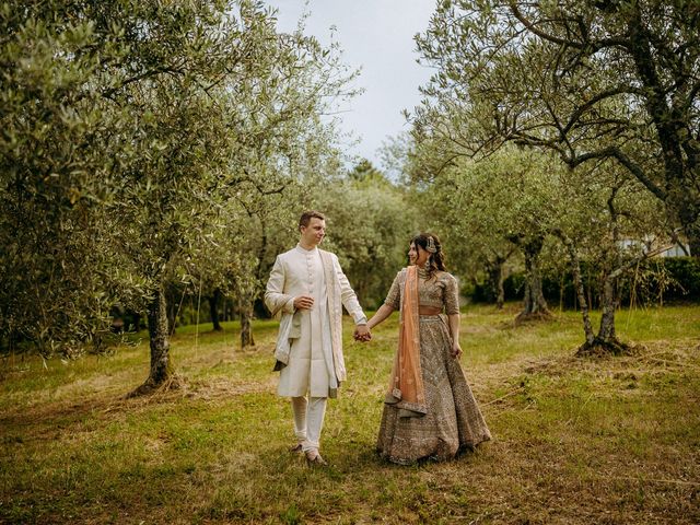
[[[398,351],[377,450],[402,465],[451,459],[491,439],[457,361],[462,355],[457,283],[445,271],[440,240],[429,233],[417,235],[408,257],[411,266],[398,272],[384,304],[368,323],[373,329],[400,310]]]

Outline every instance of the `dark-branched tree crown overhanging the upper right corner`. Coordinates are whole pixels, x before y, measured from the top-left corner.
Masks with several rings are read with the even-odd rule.
[[[417,135],[450,155],[516,142],[610,161],[700,253],[700,7],[674,0],[442,0],[417,38],[436,68]]]

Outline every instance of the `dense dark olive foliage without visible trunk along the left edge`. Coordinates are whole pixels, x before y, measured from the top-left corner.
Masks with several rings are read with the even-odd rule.
[[[118,2],[102,3],[0,7],[0,335],[11,349],[77,355],[100,342],[116,298],[143,291],[108,249],[104,205],[130,162],[128,112],[110,94],[138,73],[106,73],[131,43],[107,15]]]

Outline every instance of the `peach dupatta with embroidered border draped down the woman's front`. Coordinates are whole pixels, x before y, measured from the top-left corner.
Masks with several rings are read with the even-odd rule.
[[[418,267],[406,269],[401,299],[398,350],[394,359],[392,382],[384,402],[399,409],[400,417],[421,417],[428,412],[423,375],[420,368],[418,311]]]

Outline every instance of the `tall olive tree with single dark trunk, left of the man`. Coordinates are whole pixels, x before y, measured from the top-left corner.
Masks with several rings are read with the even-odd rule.
[[[144,159],[122,184],[115,209],[116,217],[137,226],[138,241],[129,248],[138,273],[151,283],[147,389],[171,377],[164,283],[177,275],[183,258],[215,242],[205,235],[208,225],[223,224],[226,235],[232,199],[250,217],[253,201],[276,195],[279,184],[299,176],[295,155],[318,156],[306,147],[311,124],[347,82],[339,62],[315,39],[301,32],[278,34],[271,13],[257,3],[241,3],[237,16],[229,8],[214,4],[207,16],[194,8],[185,9],[189,16],[179,10],[176,22],[191,25],[175,31],[176,42],[167,49],[176,50],[173,60],[182,72],[159,79],[145,93],[138,86],[125,92],[141,103],[138,114],[149,116],[138,142]],[[255,256],[240,259],[253,275],[236,279],[238,296],[246,299],[245,322],[265,246],[252,252],[249,237],[234,241],[234,247]],[[245,264],[250,260],[254,268]]]

